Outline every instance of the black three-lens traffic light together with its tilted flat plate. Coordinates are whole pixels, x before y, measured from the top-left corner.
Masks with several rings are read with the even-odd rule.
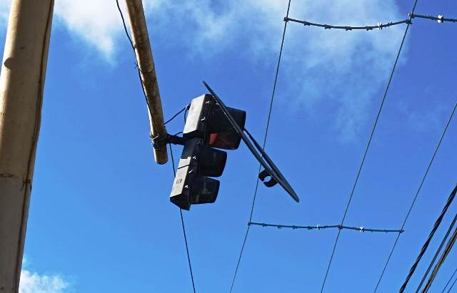
[[[293,200],[299,202],[298,195],[273,160],[244,128],[246,112],[225,106],[206,82],[204,85],[211,95],[206,94],[192,100],[183,137],[166,135],[165,139],[154,140],[154,145],[184,145],[170,201],[184,210],[189,210],[191,205],[215,202],[219,180],[211,177],[222,175],[227,158],[226,152],[216,148],[235,150],[243,140],[264,168],[258,175],[263,184],[266,187],[279,184]]]

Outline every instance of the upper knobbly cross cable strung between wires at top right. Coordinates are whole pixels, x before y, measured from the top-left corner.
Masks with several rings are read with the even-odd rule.
[[[360,31],[360,30],[363,30],[363,31],[373,31],[373,29],[378,29],[379,31],[381,31],[382,29],[385,29],[385,28],[388,28],[390,26],[398,26],[399,24],[412,24],[411,22],[411,19],[415,19],[415,18],[418,18],[418,19],[431,19],[431,20],[434,20],[434,21],[438,21],[439,24],[443,23],[443,22],[446,22],[446,21],[449,21],[449,22],[457,22],[457,19],[446,19],[444,16],[442,15],[438,15],[438,16],[426,16],[426,15],[421,15],[421,14],[409,14],[409,18],[408,19],[405,19],[405,20],[402,20],[402,21],[391,21],[391,22],[388,22],[387,24],[382,24],[382,23],[378,23],[376,24],[376,26],[334,26],[334,25],[331,25],[331,24],[317,24],[317,23],[314,23],[314,22],[311,22],[311,21],[305,21],[305,20],[299,20],[299,19],[291,19],[289,17],[285,17],[284,18],[284,21],[291,21],[291,22],[295,22],[297,24],[303,24],[303,26],[317,26],[317,27],[321,27],[323,29],[342,29],[344,31]]]

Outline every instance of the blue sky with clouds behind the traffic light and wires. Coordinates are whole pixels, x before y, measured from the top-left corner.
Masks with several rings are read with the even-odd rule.
[[[261,140],[286,0],[144,2],[165,117],[205,93],[206,80],[247,111],[246,127]],[[8,6],[0,4],[1,48]],[[411,6],[292,0],[290,16],[367,25],[406,19]],[[416,12],[457,17],[457,5],[418,1]],[[456,29],[413,21],[346,225],[401,226],[457,100]],[[341,221],[403,30],[288,25],[267,150],[301,202],[261,185],[253,221]],[[176,133],[183,120],[167,126]],[[401,286],[457,183],[456,144],[453,120],[378,292]],[[258,164],[244,146],[228,155],[216,203],[184,212],[197,292],[229,291],[251,209]],[[172,181],[171,165],[154,163],[114,1],[57,0],[22,293],[191,292]],[[456,212],[453,205],[409,290]],[[318,292],[336,232],[251,227],[233,292]],[[325,292],[372,292],[395,237],[343,231]],[[451,252],[432,288],[441,292],[456,266]]]

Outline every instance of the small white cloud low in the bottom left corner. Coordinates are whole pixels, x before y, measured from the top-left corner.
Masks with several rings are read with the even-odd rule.
[[[69,284],[59,275],[46,275],[22,270],[19,293],[64,293]]]

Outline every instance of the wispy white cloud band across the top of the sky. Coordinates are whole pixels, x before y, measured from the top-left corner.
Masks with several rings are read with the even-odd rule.
[[[7,6],[1,1],[0,16]],[[124,4],[124,0],[120,2]],[[287,0],[214,2],[144,0],[150,34],[154,30],[194,54],[236,50],[253,63],[266,56],[272,63]],[[116,41],[125,38],[114,0],[56,0],[55,14],[59,23],[108,61],[116,54]],[[406,17],[398,14],[393,0],[293,0],[290,16],[344,25]],[[316,118],[316,109],[333,105],[333,130],[343,140],[352,140],[364,125],[373,98],[378,98],[386,83],[403,29],[346,32],[289,23],[281,69],[286,84],[281,84],[281,93],[296,97],[289,100]]]

